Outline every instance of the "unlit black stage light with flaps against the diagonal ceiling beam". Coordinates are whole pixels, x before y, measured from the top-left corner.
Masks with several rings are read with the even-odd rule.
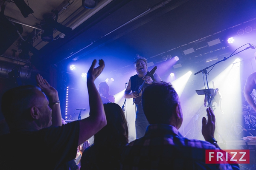
[[[72,28],[66,27],[53,20],[52,18],[45,18],[41,21],[41,26],[44,29],[44,33],[41,35],[43,41],[50,42],[53,40],[53,29],[60,31],[61,33],[67,35],[72,31]]]

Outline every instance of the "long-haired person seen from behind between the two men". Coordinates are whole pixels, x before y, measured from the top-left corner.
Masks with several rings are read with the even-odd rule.
[[[116,103],[104,104],[108,124],[94,135],[94,143],[84,150],[81,170],[119,170],[121,150],[128,144],[128,125]]]

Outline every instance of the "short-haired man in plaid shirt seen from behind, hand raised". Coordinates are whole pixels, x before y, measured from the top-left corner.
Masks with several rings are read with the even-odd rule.
[[[206,141],[199,141],[178,132],[183,114],[171,84],[149,85],[143,92],[142,105],[150,125],[145,136],[125,146],[122,170],[239,170],[238,164],[205,164],[205,151],[220,149],[213,138],[215,116],[211,108],[207,108],[208,121],[205,117],[202,120]]]

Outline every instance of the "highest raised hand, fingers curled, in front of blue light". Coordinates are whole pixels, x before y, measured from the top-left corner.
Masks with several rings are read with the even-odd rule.
[[[99,59],[99,66],[97,68],[94,68],[96,65],[97,60],[94,59],[92,65],[90,66],[90,69],[87,73],[87,81],[94,80],[102,73],[103,69],[105,68],[105,62],[103,59]]]

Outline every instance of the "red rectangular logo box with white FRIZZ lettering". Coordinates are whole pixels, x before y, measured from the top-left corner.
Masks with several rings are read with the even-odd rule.
[[[250,150],[205,150],[206,164],[250,164]]]

